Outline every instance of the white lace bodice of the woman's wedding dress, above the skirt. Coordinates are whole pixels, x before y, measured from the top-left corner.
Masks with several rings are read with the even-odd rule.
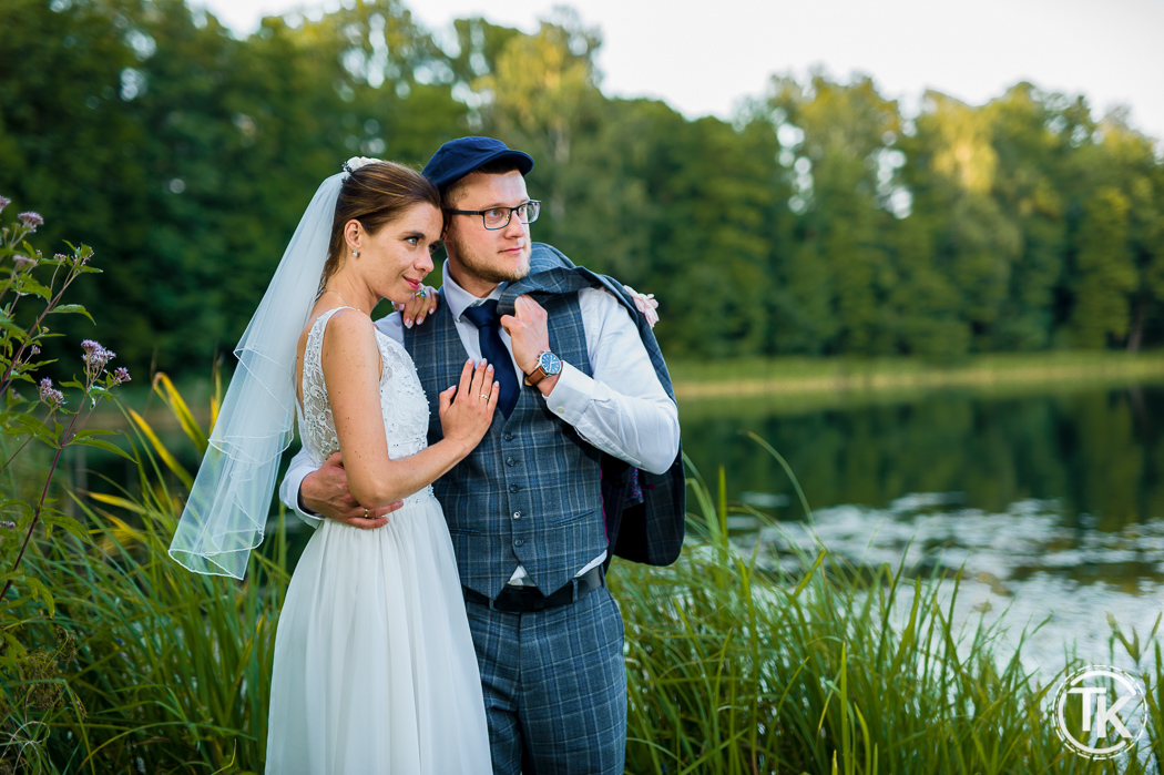
[[[319,315],[307,333],[307,347],[303,354],[299,436],[317,465],[340,449],[332,405],[327,400],[327,385],[324,384],[324,329],[332,315],[350,308],[336,307]],[[388,438],[388,456],[396,460],[416,455],[428,446],[428,398],[404,346],[379,329],[376,329],[376,344],[384,362],[379,376],[379,411]]]

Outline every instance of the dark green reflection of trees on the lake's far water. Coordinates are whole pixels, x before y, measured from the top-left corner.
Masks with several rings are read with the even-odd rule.
[[[690,405],[681,415],[684,449],[704,477],[723,464],[729,497],[780,518],[801,516],[792,485],[740,431],[788,460],[814,509],[953,492],[989,512],[1057,499],[1066,524],[1108,532],[1164,517],[1158,386],[1002,399],[941,392],[799,413],[760,403]]]

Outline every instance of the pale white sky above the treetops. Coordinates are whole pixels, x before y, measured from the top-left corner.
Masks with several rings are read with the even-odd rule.
[[[240,35],[258,19],[336,0],[192,0]],[[428,29],[452,20],[537,29],[553,0],[418,0],[405,5]],[[927,88],[980,105],[1020,80],[1085,94],[1096,115],[1131,108],[1131,125],[1164,138],[1162,0],[715,0],[663,3],[583,0],[583,23],[602,30],[609,95],[654,97],[688,118],[730,118],[764,93],[773,73],[801,79],[814,65],[835,78],[873,77],[907,109]],[[308,10],[308,13],[311,13]],[[1164,145],[1162,143],[1158,149]]]

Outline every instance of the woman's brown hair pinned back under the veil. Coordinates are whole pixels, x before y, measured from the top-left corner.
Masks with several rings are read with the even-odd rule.
[[[332,241],[327,248],[324,275],[319,278],[320,290],[340,268],[347,253],[343,226],[348,221],[360,221],[364,232],[376,234],[413,205],[427,202],[440,211],[440,192],[416,170],[396,162],[368,162],[355,169],[350,164],[343,165],[348,177],[335,202]]]

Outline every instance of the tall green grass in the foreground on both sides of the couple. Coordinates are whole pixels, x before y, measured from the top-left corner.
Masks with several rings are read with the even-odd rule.
[[[191,433],[180,397],[168,401]],[[26,623],[28,642],[56,668],[3,688],[19,716],[5,728],[23,737],[22,747],[0,740],[0,772],[2,762],[47,773],[262,769],[290,571],[283,520],[241,584],[178,567],[166,548],[185,477],[135,422],[139,481],[77,496],[92,543],[63,531],[35,542],[30,562],[57,603],[51,621]],[[627,773],[1159,772],[1155,630],[1143,644],[1113,630],[1113,647],[1156,655],[1142,676],[1150,726],[1141,755],[1093,762],[1067,752],[1046,721],[1062,674],[1038,683],[1020,650],[998,653],[999,625],[953,620],[957,577],[856,568],[792,541],[779,555],[759,542],[743,550],[729,536],[723,471],[714,489],[694,471],[689,485],[680,561],[616,563],[610,575],[626,625]],[[21,705],[37,691],[56,701]]]

